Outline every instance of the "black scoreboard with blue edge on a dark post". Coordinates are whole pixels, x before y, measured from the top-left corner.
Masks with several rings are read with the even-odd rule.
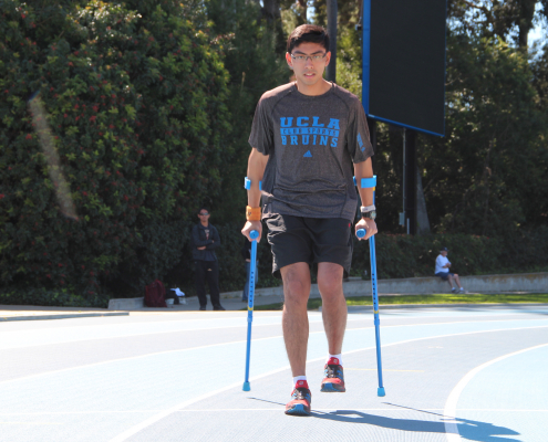
[[[404,129],[404,208],[416,231],[416,131],[445,135],[446,0],[363,0],[362,104],[370,119]]]

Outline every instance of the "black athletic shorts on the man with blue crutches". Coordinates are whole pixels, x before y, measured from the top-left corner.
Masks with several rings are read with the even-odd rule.
[[[343,218],[303,218],[275,214],[266,220],[272,248],[272,274],[298,262],[342,265],[344,277],[352,263],[352,223]]]

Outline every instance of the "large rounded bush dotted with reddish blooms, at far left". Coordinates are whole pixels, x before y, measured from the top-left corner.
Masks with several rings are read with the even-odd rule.
[[[139,295],[220,189],[223,48],[175,1],[2,0],[0,17],[0,284]],[[58,210],[27,108],[37,92],[77,221]]]

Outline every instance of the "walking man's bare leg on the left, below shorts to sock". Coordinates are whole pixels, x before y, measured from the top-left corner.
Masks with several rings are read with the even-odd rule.
[[[286,350],[293,377],[304,376],[307,369],[308,312],[310,267],[300,262],[280,269],[283,280],[282,328]]]

